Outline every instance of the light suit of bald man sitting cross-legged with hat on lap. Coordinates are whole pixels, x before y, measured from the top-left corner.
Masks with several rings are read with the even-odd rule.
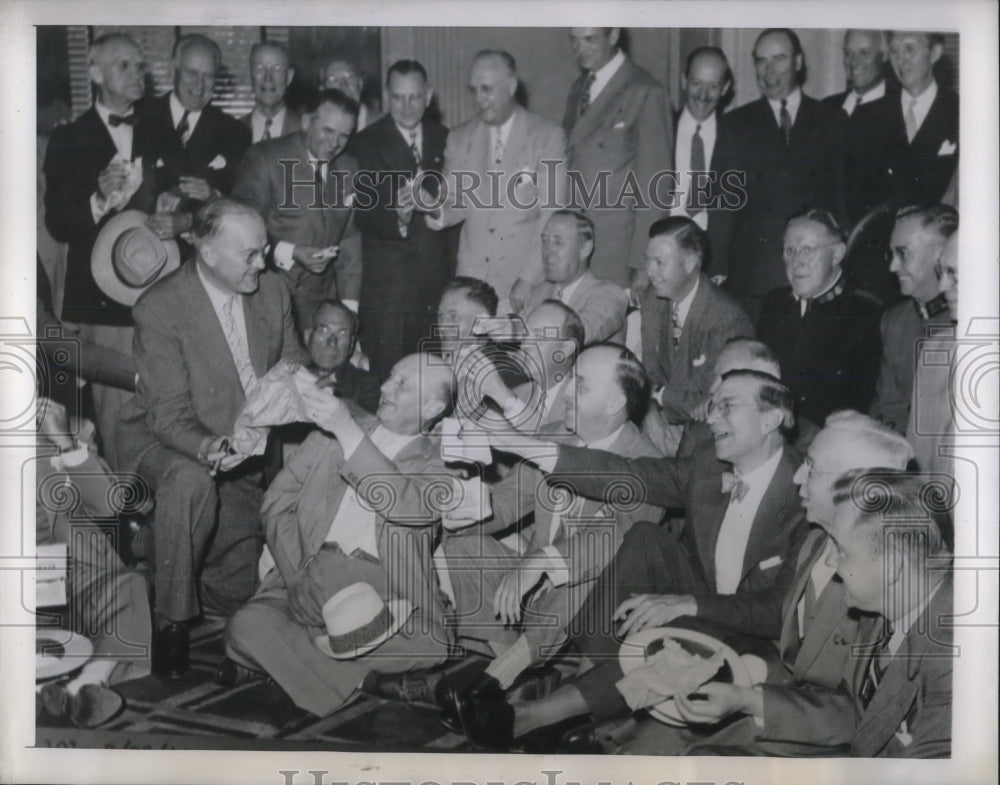
[[[371,418],[365,421],[368,432],[376,426]],[[416,436],[394,461],[366,438],[345,461],[336,439],[312,433],[264,499],[267,544],[276,567],[230,621],[230,655],[267,671],[298,706],[319,716],[341,706],[369,671],[406,671],[444,660],[444,609],[430,566],[432,527],[439,514],[428,505],[433,489],[448,479],[436,437]],[[378,559],[361,550],[345,554],[325,543],[348,487],[376,512]],[[289,610],[286,586],[306,569],[327,599],[365,581],[384,599],[408,599],[416,610],[401,632],[369,655],[330,659],[313,643],[325,628],[304,626]]]

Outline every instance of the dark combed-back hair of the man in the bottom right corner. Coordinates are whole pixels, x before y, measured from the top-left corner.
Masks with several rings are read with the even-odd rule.
[[[956,499],[954,479],[943,474],[852,469],[833,484],[834,504],[850,504],[856,511],[852,535],[865,538],[873,558],[886,547],[911,559],[951,554]],[[895,536],[889,536],[888,527]]]

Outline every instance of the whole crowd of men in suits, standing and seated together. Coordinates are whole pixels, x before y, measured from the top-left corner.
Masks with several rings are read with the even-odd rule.
[[[819,100],[794,31],[765,30],[762,95],[729,112],[701,47],[675,113],[621,33],[570,31],[561,126],[479,52],[451,129],[411,59],[381,117],[340,59],[293,109],[263,41],[237,119],[210,38],[179,38],[154,98],[128,35],[93,42],[94,105],[46,152],[67,265],[39,314],[82,342],[96,440],[56,402],[40,429],[54,471],[99,448],[150,491],[152,617],[132,584],[118,609],[139,675],[183,674],[216,616],[220,683],[319,716],[358,690],[437,706],[483,749],[950,754],[954,536],[925,502],[953,413],[920,362],[958,318],[943,37],[848,31]],[[296,413],[244,454],[289,365]],[[130,574],[102,563],[92,593]],[[663,687],[687,724],[656,722],[621,652],[667,625],[766,673]],[[136,673],[102,656],[38,711],[119,710]]]

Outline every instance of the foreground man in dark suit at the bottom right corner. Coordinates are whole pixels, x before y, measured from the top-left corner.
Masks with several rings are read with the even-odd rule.
[[[949,757],[957,651],[951,522],[947,512],[928,509],[929,482],[925,475],[876,470],[850,472],[837,483],[830,565],[847,603],[864,615],[854,647],[860,656],[847,658],[835,688],[777,688],[781,699],[772,700],[776,690],[768,685],[710,683],[699,687],[701,700],[676,699],[681,716],[715,723],[743,712],[756,718],[762,741],[783,742],[790,752],[822,745],[834,750],[827,754],[864,758]],[[868,493],[879,503],[858,504],[872,498]]]

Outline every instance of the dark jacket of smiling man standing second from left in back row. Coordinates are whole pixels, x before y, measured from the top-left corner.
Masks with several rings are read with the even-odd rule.
[[[170,93],[150,99],[140,111],[157,123],[171,142],[163,157],[167,187],[187,176],[201,177],[223,194],[232,190],[236,169],[250,146],[250,130],[243,123],[210,103],[201,110],[198,125],[185,145],[174,128]]]

